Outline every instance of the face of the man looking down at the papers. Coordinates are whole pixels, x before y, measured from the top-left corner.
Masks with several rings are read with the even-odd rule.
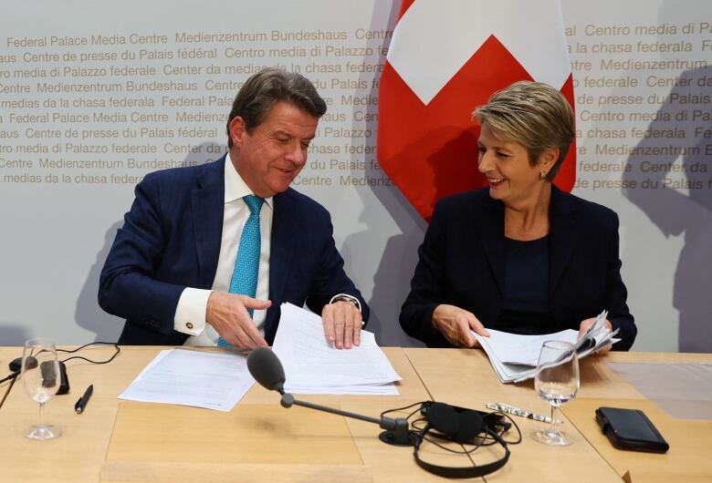
[[[289,188],[307,163],[307,148],[318,123],[318,118],[286,102],[277,102],[252,133],[243,118],[232,120],[230,158],[257,196],[268,198]]]

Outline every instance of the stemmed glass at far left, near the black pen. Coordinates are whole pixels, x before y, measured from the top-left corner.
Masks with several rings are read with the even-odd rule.
[[[22,385],[27,396],[39,403],[39,423],[29,426],[25,436],[44,441],[62,434],[57,426],[42,424],[42,406],[59,388],[59,361],[55,343],[49,339],[30,339],[22,353]]]

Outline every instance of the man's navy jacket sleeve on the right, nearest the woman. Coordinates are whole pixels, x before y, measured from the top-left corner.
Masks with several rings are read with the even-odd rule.
[[[361,302],[361,317],[364,323],[368,322],[370,309],[361,292],[351,282],[343,270],[343,259],[336,249],[333,237],[333,226],[329,213],[324,210],[324,217],[318,229],[322,233],[316,249],[318,252],[318,269],[309,286],[307,306],[313,313],[321,313],[324,305],[329,303],[331,297],[339,293],[346,293],[359,299]]]

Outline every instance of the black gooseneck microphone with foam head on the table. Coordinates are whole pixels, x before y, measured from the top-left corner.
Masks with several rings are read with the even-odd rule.
[[[325,411],[339,416],[352,417],[374,423],[385,429],[378,438],[384,443],[397,446],[414,446],[416,436],[411,434],[408,428],[408,420],[404,417],[381,416],[380,419],[370,416],[361,416],[349,411],[334,409],[329,406],[320,406],[306,401],[299,401],[294,396],[284,392],[284,383],[286,377],[284,375],[284,367],[279,362],[277,355],[271,349],[266,347],[258,347],[247,356],[247,369],[255,380],[270,391],[278,391],[282,395],[280,404],[282,407],[291,407],[292,405],[309,407],[319,411]]]

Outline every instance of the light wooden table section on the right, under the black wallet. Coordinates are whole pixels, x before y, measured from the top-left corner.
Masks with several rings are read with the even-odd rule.
[[[483,351],[414,348],[404,351],[436,400],[476,409],[484,409],[488,401],[498,401],[539,414],[549,414],[549,405],[536,395],[533,381],[518,385],[500,384]],[[549,481],[552,477],[547,472],[556,473],[560,466],[564,466],[571,468],[571,471],[575,468],[584,471],[576,478],[571,478],[570,473],[570,479],[603,481],[604,476],[610,476],[610,471],[598,464],[590,464],[589,457],[595,452],[610,465],[619,481],[621,478],[633,483],[712,481],[712,421],[668,416],[621,376],[613,373],[606,362],[710,363],[712,355],[610,353],[582,359],[581,390],[573,401],[561,406],[566,426],[576,430],[582,444],[577,441],[571,447],[544,448],[527,435],[539,423],[518,418],[525,433],[525,442],[513,447],[510,463],[497,477],[509,481],[508,473],[518,475],[519,466],[533,465],[530,471],[535,472],[541,481]],[[594,411],[600,406],[644,410],[670,444],[670,450],[665,455],[658,455],[614,448],[596,423]],[[519,452],[526,453],[526,457],[515,459]],[[547,456],[547,453],[551,455]],[[538,457],[532,459],[530,456],[533,454]],[[577,457],[583,458],[578,464],[575,461]],[[593,461],[596,461],[595,458]],[[486,479],[495,481],[495,477],[492,475]]]

